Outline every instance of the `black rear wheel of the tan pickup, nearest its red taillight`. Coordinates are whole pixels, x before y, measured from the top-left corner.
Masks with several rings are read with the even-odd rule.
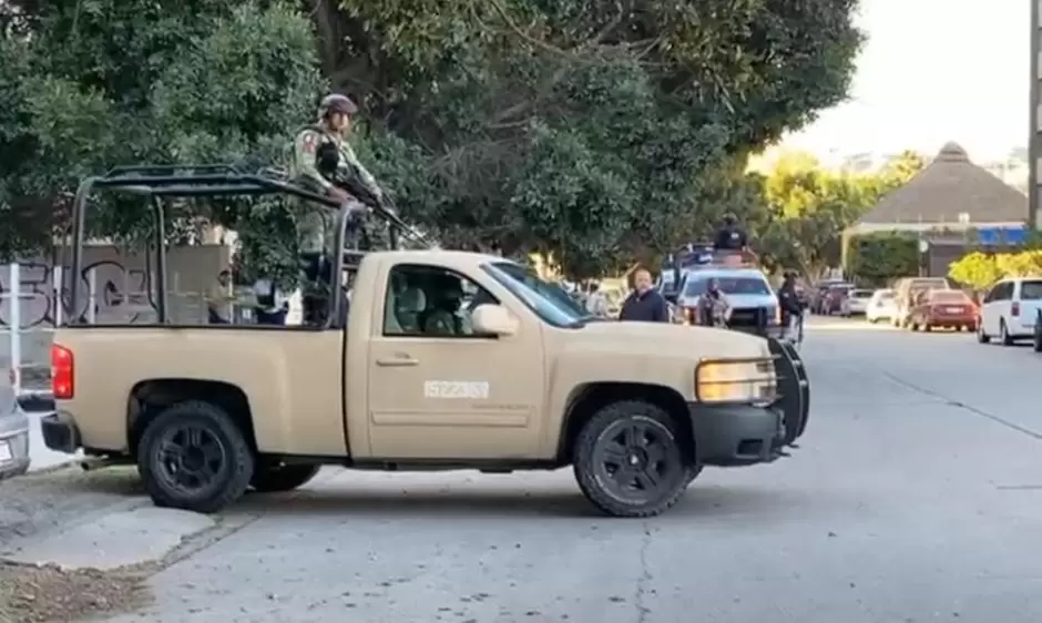
[[[137,471],[155,505],[213,513],[246,492],[254,453],[224,409],[186,400],[146,425]]]

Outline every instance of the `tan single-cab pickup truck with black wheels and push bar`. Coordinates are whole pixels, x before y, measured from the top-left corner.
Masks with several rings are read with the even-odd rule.
[[[648,517],[704,466],[786,456],[807,421],[790,347],[595,320],[497,256],[368,253],[341,312],[321,327],[61,327],[47,446],[135,462],[156,504],[198,512],[323,464],[572,466],[599,509]]]

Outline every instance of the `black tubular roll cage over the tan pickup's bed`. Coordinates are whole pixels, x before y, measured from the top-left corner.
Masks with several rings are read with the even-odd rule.
[[[229,196],[269,196],[290,195],[311,202],[329,212],[336,213],[335,247],[340,249],[330,272],[330,292],[336,292],[340,275],[344,274],[347,261],[357,265],[365,252],[346,251],[347,223],[350,208],[325,195],[319,195],[307,188],[286,181],[285,176],[274,170],[262,170],[259,173],[247,173],[231,164],[188,164],[188,165],[131,165],[115,166],[104,175],[86,177],[76,190],[72,210],[72,274],[80,275],[83,268],[83,236],[85,234],[86,208],[91,194],[96,190],[105,190],[124,194],[142,195],[151,200],[152,213],[155,222],[155,266],[156,290],[159,298],[154,302],[160,324],[168,323],[168,305],[166,295],[166,210],[164,200],[184,197],[229,197]],[[387,205],[370,205],[372,211],[390,225],[390,246],[398,248],[398,237],[407,234],[415,239],[423,241],[412,227],[403,222]],[[73,277],[75,278],[75,277]],[[151,282],[151,279],[150,279]],[[71,308],[79,309],[79,288],[73,284],[71,293]],[[149,284],[151,289],[152,284]],[[339,318],[343,297],[329,297],[329,314],[326,316],[328,326],[333,319]],[[82,318],[69,318],[70,325],[83,324]]]

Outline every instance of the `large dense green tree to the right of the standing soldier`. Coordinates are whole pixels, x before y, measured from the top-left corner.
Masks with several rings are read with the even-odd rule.
[[[860,42],[852,1],[313,8],[324,68],[379,120],[369,140],[419,146],[407,214],[449,244],[546,252],[576,277],[718,214],[746,184],[722,172],[838,103]]]

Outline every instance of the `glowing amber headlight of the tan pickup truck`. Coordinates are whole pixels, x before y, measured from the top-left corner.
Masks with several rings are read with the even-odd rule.
[[[778,377],[770,358],[713,359],[695,368],[699,402],[766,404],[777,397]]]

